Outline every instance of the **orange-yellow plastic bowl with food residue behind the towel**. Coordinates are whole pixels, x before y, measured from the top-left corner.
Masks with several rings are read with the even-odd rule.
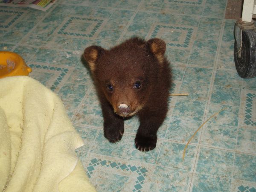
[[[31,68],[17,53],[0,51],[0,78],[7,76],[28,76]]]

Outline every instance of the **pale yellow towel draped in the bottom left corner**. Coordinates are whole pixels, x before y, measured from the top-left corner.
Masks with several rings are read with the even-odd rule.
[[[82,145],[55,93],[27,76],[0,79],[0,191],[94,192]]]

